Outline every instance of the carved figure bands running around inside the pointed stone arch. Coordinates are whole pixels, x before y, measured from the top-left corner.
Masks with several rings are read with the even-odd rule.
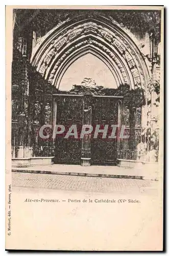
[[[88,39],[73,45],[71,48],[68,47],[68,51],[64,52],[63,55],[59,54],[60,51],[67,44],[69,44],[69,42],[75,40],[75,38],[81,38],[82,36],[86,36],[88,34],[93,34],[93,37],[89,37]],[[84,45],[89,44],[96,46],[103,52],[105,52],[118,67],[120,73],[122,74],[124,82],[130,83],[130,76],[126,73],[127,71],[124,68],[123,61],[119,60],[119,58],[121,58],[120,56],[122,56],[122,58],[126,60],[126,64],[129,67],[129,70],[131,71],[131,75],[133,76],[134,86],[136,88],[141,86],[141,82],[143,81],[144,75],[142,67],[140,66],[139,61],[135,57],[135,50],[132,49],[131,45],[129,45],[129,42],[126,39],[119,36],[119,33],[115,33],[114,30],[111,31],[94,22],[88,22],[77,27],[71,27],[68,30],[65,29],[59,35],[59,37],[55,36],[55,38],[53,38],[53,40],[51,41],[50,44],[52,44],[52,48],[50,48],[50,51],[46,53],[46,56],[44,57],[39,69],[39,72],[42,75],[45,75],[46,70],[52,67],[51,63],[55,58],[56,64],[54,68],[52,68],[52,70],[50,70],[50,68],[49,71],[47,71],[49,72],[49,74],[47,74],[47,77],[49,77],[48,80],[52,84],[54,84],[57,70],[62,64],[62,62],[65,60],[65,58],[67,58],[67,56],[69,56],[75,50],[80,49]],[[104,39],[105,44],[101,41],[96,40],[95,37],[100,37]],[[107,44],[109,45],[109,48],[106,47]],[[115,56],[113,50],[111,50],[112,47],[114,47],[115,51],[118,52],[119,57]]]

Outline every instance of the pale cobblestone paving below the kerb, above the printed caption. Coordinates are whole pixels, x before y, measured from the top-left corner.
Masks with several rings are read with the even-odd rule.
[[[12,173],[13,187],[51,188],[96,192],[124,192],[156,194],[157,181],[81,177],[52,174]]]

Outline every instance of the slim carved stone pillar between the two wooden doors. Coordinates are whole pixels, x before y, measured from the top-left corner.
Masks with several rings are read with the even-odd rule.
[[[83,100],[83,125],[91,125],[92,96],[84,95]],[[81,165],[91,164],[91,135],[86,134],[82,139]]]

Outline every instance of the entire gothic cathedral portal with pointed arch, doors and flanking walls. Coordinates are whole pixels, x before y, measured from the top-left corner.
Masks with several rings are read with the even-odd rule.
[[[142,15],[141,10],[134,13],[138,19]],[[125,25],[129,10],[41,9],[38,18],[33,9],[14,14],[13,163],[20,159],[82,165],[158,162],[152,89],[153,74],[160,70],[158,34],[147,28],[139,34],[137,26],[133,30],[133,24]],[[32,25],[26,26],[24,19],[30,15]],[[50,134],[56,124],[65,128],[60,136],[40,137],[43,125],[45,134]],[[65,138],[72,125],[74,136]],[[92,131],[81,137],[83,125]],[[102,130],[97,136],[96,129]]]

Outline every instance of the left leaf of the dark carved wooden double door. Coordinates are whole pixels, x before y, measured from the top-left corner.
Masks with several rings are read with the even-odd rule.
[[[56,139],[55,163],[80,164],[80,132],[82,128],[83,98],[79,96],[58,96],[56,123],[64,125],[65,132]],[[77,137],[64,138],[71,125],[77,125]],[[75,131],[74,131],[75,132]]]

